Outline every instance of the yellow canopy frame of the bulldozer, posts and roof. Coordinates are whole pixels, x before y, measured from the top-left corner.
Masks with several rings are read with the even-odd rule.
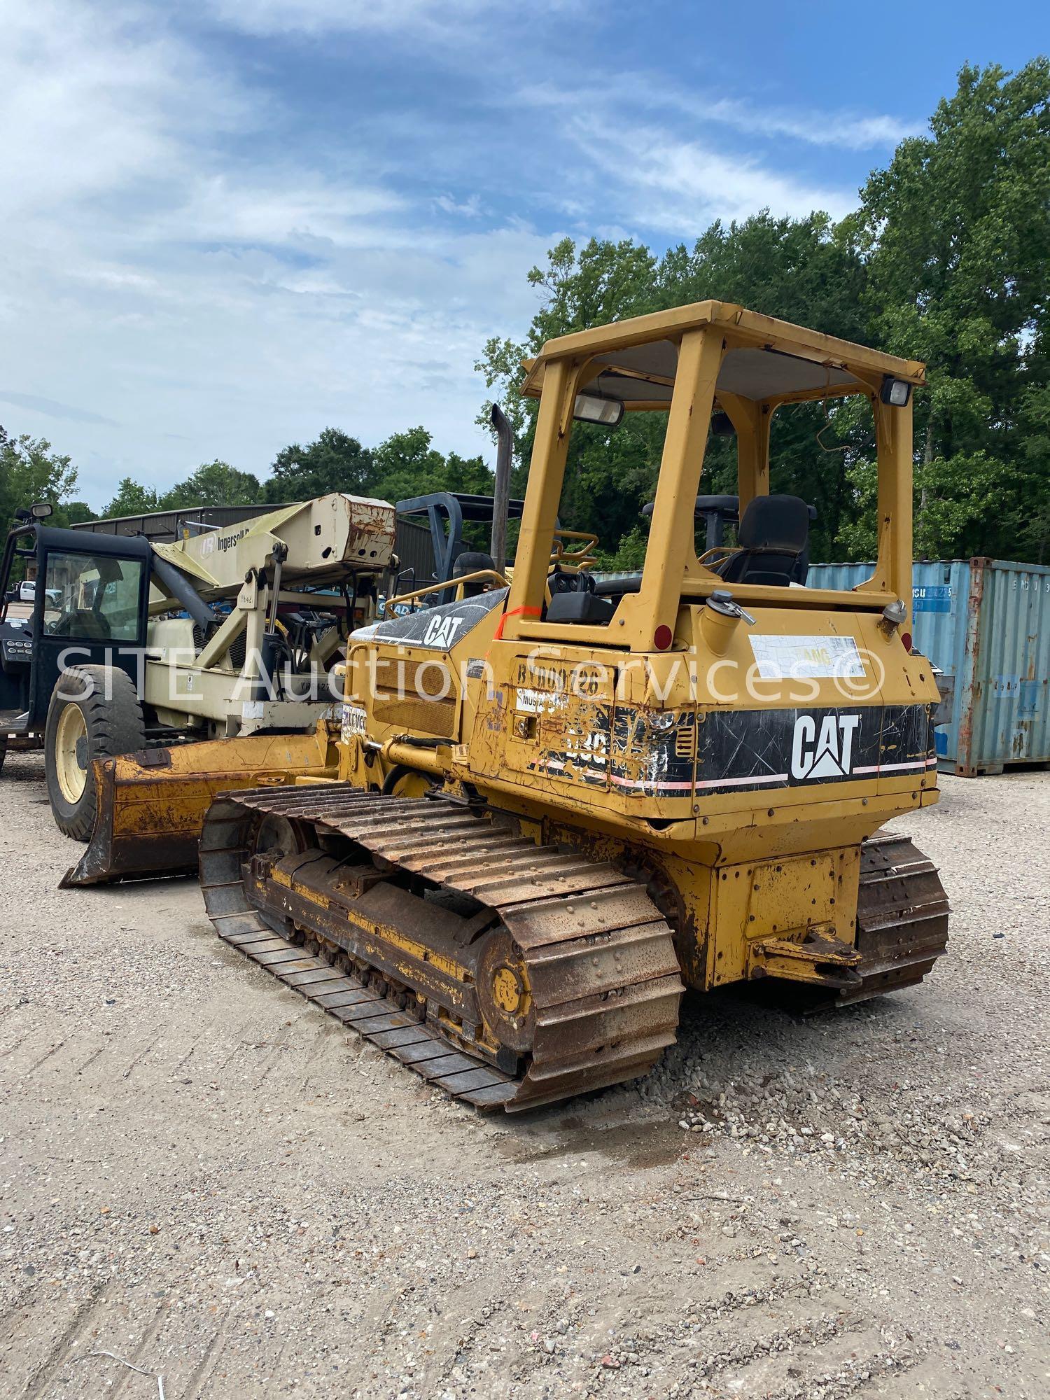
[[[669,343],[678,350],[678,370],[643,377],[622,365],[638,346]],[[816,384],[794,392],[749,399],[718,388],[722,364],[732,351],[777,351],[813,365]],[[657,629],[673,629],[683,598],[704,598],[720,587],[717,575],[696,557],[693,518],[682,503],[692,501],[700,484],[711,414],[721,409],[736,431],[741,512],[756,496],[769,494],[769,449],[773,414],[784,403],[822,400],[862,393],[875,414],[879,470],[878,564],[860,585],[872,602],[902,599],[911,609],[911,400],[903,407],[881,402],[889,378],[916,386],[925,382],[916,360],[882,354],[834,336],[806,330],[742,307],[701,301],[673,311],[637,316],[612,326],[581,330],[549,340],[531,363],[522,392],[540,399],[529,469],[529,493],[521,522],[515,577],[508,599],[511,615],[504,637],[556,641],[564,629],[532,622],[524,610],[535,605],[546,580],[557,504],[568,454],[573,405],[577,395],[599,381],[610,367],[637,375],[638,398],[626,400],[627,412],[668,413],[650,543],[638,594],[624,596],[613,627],[622,629],[617,647],[655,650]],[[662,391],[657,398],[654,391]],[[533,484],[535,483],[535,484]],[[742,602],[767,598],[769,591],[739,584]],[[837,595],[806,589],[795,606],[827,606]],[[610,629],[575,627],[577,641],[609,644]]]

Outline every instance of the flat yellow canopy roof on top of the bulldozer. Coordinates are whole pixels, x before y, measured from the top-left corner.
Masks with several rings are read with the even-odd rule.
[[[619,399],[629,409],[664,409],[678,371],[678,339],[699,326],[725,332],[715,392],[759,403],[871,393],[885,375],[924,382],[924,365],[867,346],[806,330],[722,301],[699,301],[610,326],[547,340],[526,361],[522,393],[539,398],[546,365],[557,358],[587,358],[581,388]]]

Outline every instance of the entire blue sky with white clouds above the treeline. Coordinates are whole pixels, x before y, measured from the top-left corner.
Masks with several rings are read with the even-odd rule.
[[[3,0],[0,423],[97,507],[216,456],[263,476],[326,424],[489,451],[473,361],[559,237],[840,216],[1046,13]]]

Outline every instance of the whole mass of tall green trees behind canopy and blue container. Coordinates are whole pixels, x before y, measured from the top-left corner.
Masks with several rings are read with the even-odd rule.
[[[925,360],[916,396],[916,550],[1042,560],[1050,547],[1050,63],[965,67],[930,134],[902,141],[836,225],[767,210],[715,223],[657,259],[630,241],[563,239],[528,279],[543,302],[522,342],[477,363],[511,416],[519,468],[535,402],[521,360],[605,321],[714,298]],[[616,567],[637,559],[662,416],[573,434],[561,522],[601,532]],[[487,424],[487,405],[479,419]],[[865,403],[797,405],[773,420],[771,484],[818,508],[813,560],[871,557],[876,490]],[[701,490],[735,490],[732,442],[713,438]]]

